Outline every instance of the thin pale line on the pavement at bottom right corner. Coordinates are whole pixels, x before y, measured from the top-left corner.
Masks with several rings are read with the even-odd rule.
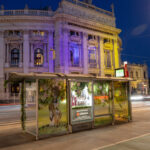
[[[122,141],[119,141],[119,142],[115,142],[115,143],[113,143],[113,144],[109,144],[109,145],[101,146],[101,147],[98,147],[98,148],[94,148],[94,149],[92,149],[92,150],[101,150],[101,149],[103,149],[103,148],[111,147],[111,146],[114,146],[114,145],[117,145],[117,144],[120,144],[120,143],[124,143],[124,142],[131,141],[131,140],[135,140],[135,139],[138,139],[138,138],[147,136],[147,135],[150,135],[150,133],[146,133],[146,134],[143,134],[143,135],[134,137],[134,138],[127,139],[127,140],[122,140]]]

